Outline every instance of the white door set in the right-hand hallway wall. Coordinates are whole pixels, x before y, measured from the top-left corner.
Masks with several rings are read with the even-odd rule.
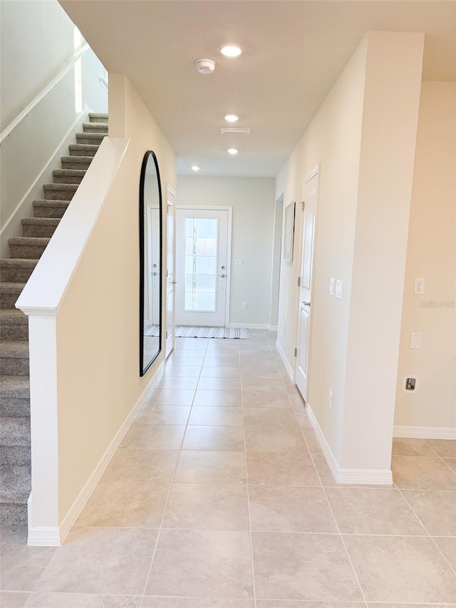
[[[296,385],[307,401],[309,395],[309,352],[311,344],[311,292],[314,267],[314,240],[316,205],[318,200],[318,165],[304,178],[301,213],[303,241],[301,251],[301,287],[299,289],[298,353],[296,359]],[[298,211],[299,212],[299,211]]]

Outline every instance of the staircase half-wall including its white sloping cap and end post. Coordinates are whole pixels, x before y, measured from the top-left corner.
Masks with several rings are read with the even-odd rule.
[[[109,113],[110,137],[18,302],[31,314],[29,534],[41,544],[61,542],[163,361],[140,378],[139,183],[154,150],[175,187],[175,154],[123,75],[110,76]]]

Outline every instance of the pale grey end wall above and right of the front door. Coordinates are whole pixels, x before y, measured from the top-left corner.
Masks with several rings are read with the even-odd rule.
[[[230,324],[269,327],[274,200],[274,180],[267,177],[177,180],[177,205],[233,207]],[[235,259],[244,265],[235,267]]]

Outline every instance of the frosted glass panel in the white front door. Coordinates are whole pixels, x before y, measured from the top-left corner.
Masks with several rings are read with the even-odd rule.
[[[185,218],[185,310],[215,311],[217,219]]]

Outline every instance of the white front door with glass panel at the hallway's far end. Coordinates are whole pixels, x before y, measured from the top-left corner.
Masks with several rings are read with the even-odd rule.
[[[229,230],[227,207],[177,207],[176,324],[227,324]]]

